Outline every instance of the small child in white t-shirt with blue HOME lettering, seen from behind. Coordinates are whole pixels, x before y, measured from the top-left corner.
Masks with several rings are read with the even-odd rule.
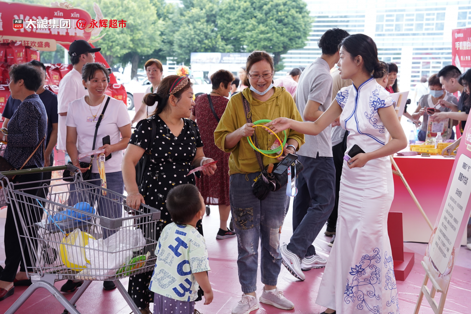
[[[196,230],[206,208],[192,184],[177,185],[165,202],[173,222],[163,228],[155,249],[157,262],[149,284],[155,293],[154,314],[193,314],[198,287],[204,292],[205,305],[213,298],[208,251],[203,235]]]

